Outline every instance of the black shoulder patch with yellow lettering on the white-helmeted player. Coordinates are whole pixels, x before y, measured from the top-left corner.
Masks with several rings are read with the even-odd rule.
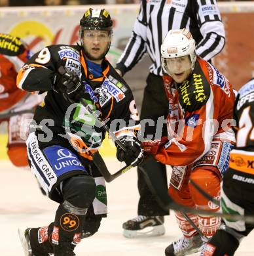
[[[206,105],[211,87],[198,62],[189,79],[177,86],[177,91],[179,102],[185,111],[193,112]]]

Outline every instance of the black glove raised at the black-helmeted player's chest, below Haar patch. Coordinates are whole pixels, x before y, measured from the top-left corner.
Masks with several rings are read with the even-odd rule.
[[[71,102],[79,102],[81,98],[84,98],[84,85],[79,79],[79,76],[73,72],[70,72],[64,66],[58,68],[60,74],[59,86],[60,91],[64,94],[64,98]]]

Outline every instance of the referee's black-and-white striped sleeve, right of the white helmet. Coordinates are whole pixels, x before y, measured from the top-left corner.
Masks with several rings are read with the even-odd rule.
[[[203,39],[196,46],[196,53],[210,60],[220,53],[225,45],[225,28],[216,1],[198,0],[198,22]]]

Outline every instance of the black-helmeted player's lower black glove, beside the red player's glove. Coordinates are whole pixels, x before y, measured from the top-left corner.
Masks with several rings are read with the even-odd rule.
[[[126,151],[117,145],[117,159],[124,161],[126,165],[137,166],[143,160],[143,149],[135,137],[122,137],[120,142],[126,147]]]

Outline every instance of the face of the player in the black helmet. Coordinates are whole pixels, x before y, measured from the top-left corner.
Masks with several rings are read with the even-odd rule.
[[[108,31],[84,30],[83,47],[86,58],[100,64],[109,48],[110,41],[111,33]]]

